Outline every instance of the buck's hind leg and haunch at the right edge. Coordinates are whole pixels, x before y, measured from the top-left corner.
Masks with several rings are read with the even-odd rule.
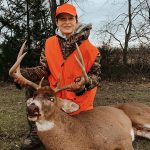
[[[150,139],[150,107],[142,103],[118,104],[115,107],[123,110],[131,119],[134,134]]]

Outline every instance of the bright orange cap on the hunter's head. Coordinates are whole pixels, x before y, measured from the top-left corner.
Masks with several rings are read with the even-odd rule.
[[[57,7],[56,16],[58,16],[61,13],[67,13],[72,16],[77,15],[76,8],[73,5],[67,3]]]

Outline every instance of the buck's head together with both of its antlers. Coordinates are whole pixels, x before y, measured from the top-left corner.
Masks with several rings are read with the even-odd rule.
[[[26,78],[24,78],[21,75],[20,63],[21,63],[22,59],[24,58],[24,56],[26,55],[26,53],[23,53],[25,43],[26,42],[23,43],[23,45],[20,49],[20,52],[17,57],[17,61],[9,70],[9,75],[12,76],[13,78],[18,78],[19,76],[21,76],[27,85],[36,89],[34,96],[27,100],[27,112],[28,112],[29,119],[32,121],[45,119],[45,118],[47,118],[47,116],[51,116],[51,114],[54,113],[56,108],[57,109],[59,108],[59,109],[65,111],[66,113],[72,113],[74,111],[77,111],[79,109],[79,105],[77,105],[76,103],[74,103],[72,101],[64,100],[64,99],[60,99],[60,98],[56,97],[57,92],[60,92],[62,90],[66,90],[66,89],[70,89],[72,86],[74,86],[75,83],[60,87],[60,85],[59,85],[60,78],[59,78],[57,87],[52,90],[52,89],[50,89],[50,87],[42,87],[41,86],[43,79],[41,80],[41,82],[38,85],[32,81],[27,80]],[[79,55],[79,59],[77,56],[75,56],[75,59],[78,62],[79,66],[82,70],[82,74],[84,77],[84,82],[82,83],[82,85],[84,85],[89,81],[89,78],[85,71],[83,57],[82,57],[82,54],[81,54],[77,44],[76,44],[76,48],[77,48],[77,52]],[[45,113],[45,111],[46,111],[46,113]]]

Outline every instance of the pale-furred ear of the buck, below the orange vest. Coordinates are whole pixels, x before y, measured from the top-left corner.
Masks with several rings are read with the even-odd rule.
[[[65,100],[65,99],[58,99],[58,107],[65,111],[66,113],[72,113],[77,111],[80,107],[78,104],[75,102],[72,102],[70,100]]]

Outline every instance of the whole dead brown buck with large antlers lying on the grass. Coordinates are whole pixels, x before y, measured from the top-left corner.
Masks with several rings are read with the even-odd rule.
[[[20,75],[19,64],[25,55],[21,53],[9,72],[14,78]],[[82,64],[81,61],[81,68]],[[84,67],[82,70],[85,74]],[[87,75],[84,76],[87,81]],[[52,90],[41,87],[41,83],[24,80],[37,89],[27,101],[28,117],[36,122],[38,135],[47,150],[133,150],[136,135],[150,138],[150,107],[144,104],[97,106],[70,116],[68,113],[78,110],[79,106],[56,97],[56,93],[72,85],[59,87],[58,83]]]

